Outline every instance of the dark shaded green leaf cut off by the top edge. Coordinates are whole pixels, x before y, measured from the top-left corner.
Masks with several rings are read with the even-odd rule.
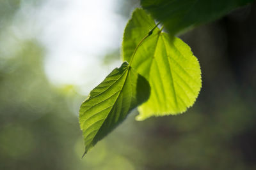
[[[141,0],[141,6],[175,35],[216,20],[250,2],[253,0]]]

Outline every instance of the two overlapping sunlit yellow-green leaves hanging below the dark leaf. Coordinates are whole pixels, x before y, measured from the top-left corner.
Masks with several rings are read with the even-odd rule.
[[[125,27],[123,56],[122,66],[81,105],[79,123],[85,153],[137,106],[137,120],[175,115],[192,106],[200,91],[200,66],[189,46],[162,32],[142,9],[134,11]]]

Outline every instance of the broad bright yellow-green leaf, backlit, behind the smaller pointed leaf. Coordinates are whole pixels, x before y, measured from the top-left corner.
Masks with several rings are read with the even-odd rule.
[[[154,27],[154,20],[141,9],[132,14],[124,32],[124,60],[131,60],[131,50]],[[143,32],[143,33],[141,33]],[[150,83],[148,101],[139,107],[137,120],[151,116],[175,115],[195,103],[202,86],[198,60],[181,39],[158,28],[143,41],[131,66]]]

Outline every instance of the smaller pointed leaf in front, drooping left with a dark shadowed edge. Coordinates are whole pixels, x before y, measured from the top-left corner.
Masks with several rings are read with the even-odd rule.
[[[115,68],[102,83],[90,92],[79,111],[85,152],[120,124],[129,111],[147,101],[148,81],[127,62]]]

